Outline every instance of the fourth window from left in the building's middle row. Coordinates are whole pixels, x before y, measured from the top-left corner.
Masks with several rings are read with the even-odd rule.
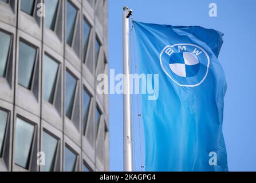
[[[74,97],[76,96],[77,79],[66,71],[66,117],[71,120]]]

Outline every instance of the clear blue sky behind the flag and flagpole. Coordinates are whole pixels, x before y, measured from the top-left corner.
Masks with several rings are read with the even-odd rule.
[[[208,5],[218,17],[208,16]],[[256,171],[256,1],[255,0],[109,0],[109,69],[122,72],[122,12],[128,5],[136,21],[198,25],[225,33],[219,61],[225,70],[223,134],[230,171]],[[135,104],[136,100],[135,100]],[[111,171],[123,171],[123,97],[109,96]],[[137,108],[135,107],[137,116]],[[139,121],[135,117],[135,170],[140,171]],[[141,133],[143,130],[141,129]],[[143,134],[141,134],[143,136]],[[141,137],[144,161],[143,137]],[[142,163],[143,164],[143,163]]]

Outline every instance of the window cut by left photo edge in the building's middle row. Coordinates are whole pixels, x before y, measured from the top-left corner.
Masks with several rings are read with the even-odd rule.
[[[5,77],[7,59],[10,50],[11,35],[0,31],[0,77]]]

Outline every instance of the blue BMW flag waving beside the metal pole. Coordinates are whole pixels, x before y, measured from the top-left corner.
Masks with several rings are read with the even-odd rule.
[[[134,22],[140,73],[159,74],[142,95],[147,171],[228,171],[222,133],[227,89],[218,61],[223,34],[199,26]]]

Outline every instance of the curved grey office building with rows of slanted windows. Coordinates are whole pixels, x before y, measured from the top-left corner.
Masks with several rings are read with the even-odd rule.
[[[108,171],[107,0],[0,0],[0,171]]]

